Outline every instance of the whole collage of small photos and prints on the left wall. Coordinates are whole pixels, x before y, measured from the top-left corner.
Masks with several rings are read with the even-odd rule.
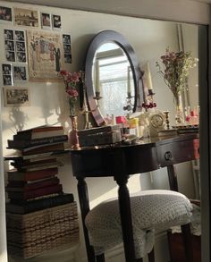
[[[60,80],[59,70],[63,69],[63,64],[72,63],[71,35],[53,32],[62,30],[61,15],[33,8],[0,6],[1,23],[7,24],[7,29],[3,29],[4,62],[1,66],[4,106],[29,106],[30,89],[16,88],[16,84],[28,80]],[[15,29],[9,28],[12,23]]]

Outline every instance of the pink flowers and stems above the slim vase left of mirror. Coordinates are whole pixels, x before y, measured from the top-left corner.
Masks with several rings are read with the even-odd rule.
[[[79,97],[77,85],[80,82],[81,72],[67,72],[65,70],[60,71],[60,75],[63,77],[65,84],[65,91],[69,96],[70,114],[76,115],[76,102]]]

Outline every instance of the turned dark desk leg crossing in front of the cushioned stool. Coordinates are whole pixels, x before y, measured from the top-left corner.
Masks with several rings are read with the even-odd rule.
[[[124,255],[126,262],[135,261],[135,251],[132,233],[132,222],[131,222],[131,201],[129,190],[127,188],[128,177],[122,177],[121,179],[116,179],[119,185],[118,197],[119,197],[119,207],[120,216],[122,222],[122,237],[124,245]]]

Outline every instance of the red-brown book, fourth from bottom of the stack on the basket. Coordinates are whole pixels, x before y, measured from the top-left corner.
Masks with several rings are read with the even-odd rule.
[[[42,170],[29,171],[29,172],[20,172],[8,171],[8,182],[11,181],[36,181],[46,177],[55,176],[58,173],[58,167],[46,168]]]

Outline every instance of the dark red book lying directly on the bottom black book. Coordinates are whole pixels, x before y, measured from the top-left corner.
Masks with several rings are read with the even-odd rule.
[[[28,200],[28,199],[36,199],[38,197],[47,196],[55,193],[62,193],[63,192],[63,185],[53,185],[46,188],[41,188],[38,190],[30,190],[24,192],[7,192],[9,199],[21,199],[21,200]]]

